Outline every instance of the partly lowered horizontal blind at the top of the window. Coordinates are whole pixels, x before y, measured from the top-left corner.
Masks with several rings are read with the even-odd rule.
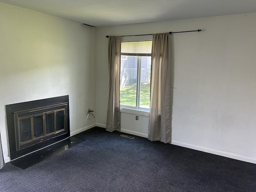
[[[150,56],[152,41],[121,42],[122,55]]]

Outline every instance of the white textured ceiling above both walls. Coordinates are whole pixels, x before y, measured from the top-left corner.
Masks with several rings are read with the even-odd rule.
[[[256,12],[256,0],[0,0],[92,26]]]

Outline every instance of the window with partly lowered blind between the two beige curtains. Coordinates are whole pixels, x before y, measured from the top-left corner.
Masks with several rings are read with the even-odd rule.
[[[152,40],[121,42],[120,106],[149,110]]]

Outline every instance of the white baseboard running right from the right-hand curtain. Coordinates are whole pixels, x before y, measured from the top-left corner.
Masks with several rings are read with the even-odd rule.
[[[186,144],[186,143],[182,143],[182,142],[178,142],[178,141],[172,141],[172,144],[256,164],[256,159],[254,159],[254,158],[249,158],[249,157],[240,156],[240,155],[236,155],[236,154],[232,154],[232,153],[213,150],[213,149],[204,148],[204,147],[200,147],[200,146],[195,146],[195,145],[191,145],[191,144]]]

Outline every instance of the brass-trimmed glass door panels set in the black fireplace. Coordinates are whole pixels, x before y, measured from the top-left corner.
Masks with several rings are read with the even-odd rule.
[[[66,103],[14,112],[16,149],[66,133]]]

